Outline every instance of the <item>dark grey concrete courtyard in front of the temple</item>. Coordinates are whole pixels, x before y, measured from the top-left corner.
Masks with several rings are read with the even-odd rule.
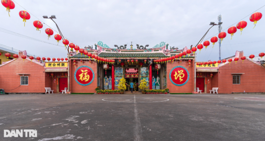
[[[0,95],[0,140],[265,140],[265,95]]]

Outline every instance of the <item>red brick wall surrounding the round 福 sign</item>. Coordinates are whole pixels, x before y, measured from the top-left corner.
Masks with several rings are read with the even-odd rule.
[[[80,62],[80,60],[76,60],[75,66],[73,66],[73,60],[70,61],[70,91],[72,93],[92,93],[95,92],[95,88],[97,87],[97,63],[92,61],[91,63],[88,62],[88,60],[83,60],[83,63]],[[74,72],[76,68],[86,65],[93,69],[94,71],[94,81],[87,85],[82,86],[78,84],[74,79]]]

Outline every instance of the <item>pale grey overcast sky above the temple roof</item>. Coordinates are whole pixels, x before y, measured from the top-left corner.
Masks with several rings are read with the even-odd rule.
[[[218,15],[222,15],[223,30],[236,26],[241,19],[248,22],[248,26],[234,34],[230,34],[222,42],[221,58],[235,55],[235,51],[244,51],[245,56],[265,52],[265,1],[28,1],[15,0],[19,5],[28,10],[31,19],[25,23],[18,12],[24,10],[17,3],[11,10],[10,16],[2,6],[0,10],[0,28],[10,30],[22,35],[37,38],[57,44],[54,39],[55,32],[47,39],[44,32],[48,28],[56,29],[55,23],[50,19],[43,19],[43,15],[56,15],[57,22],[63,35],[81,48],[93,45],[98,41],[115,48],[114,44],[130,44],[133,41],[149,48],[164,41],[169,46],[179,49],[196,45],[208,30],[209,22],[218,22]],[[259,9],[262,7],[261,9]],[[259,9],[259,10],[257,10]],[[254,11],[261,12],[263,17],[253,29],[253,22],[249,14]],[[41,34],[36,31],[33,21],[38,20],[45,24]],[[3,31],[3,30],[0,30]],[[63,47],[51,45],[35,40],[30,40],[4,32],[0,32],[1,42],[6,46],[18,50],[26,50],[30,54],[40,57],[67,57]],[[205,40],[218,36],[218,27],[210,29]],[[211,43],[212,44],[212,43]],[[62,40],[59,45],[63,45]],[[209,45],[207,50],[197,52],[197,61],[218,60],[219,45]]]

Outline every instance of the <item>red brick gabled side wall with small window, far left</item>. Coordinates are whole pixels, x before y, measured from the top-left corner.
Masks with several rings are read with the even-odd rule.
[[[22,53],[19,53],[18,59],[0,67],[0,88],[8,93],[44,93],[44,67],[27,59],[23,61],[21,55]],[[29,76],[29,85],[19,86],[22,75],[18,74],[30,74],[24,75]]]

